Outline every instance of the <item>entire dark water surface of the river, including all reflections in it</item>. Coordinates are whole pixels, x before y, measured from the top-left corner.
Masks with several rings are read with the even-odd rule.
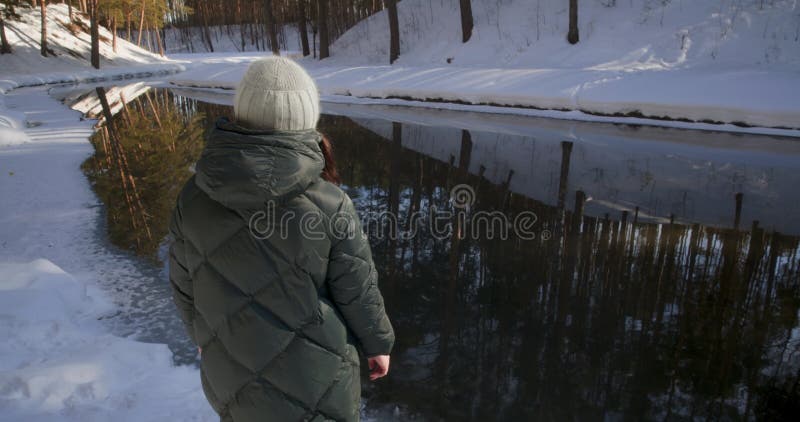
[[[84,170],[107,206],[111,241],[161,269],[169,213],[202,134],[232,110],[166,90],[125,101],[114,118],[120,142],[98,132]],[[397,332],[390,376],[364,382],[367,414],[800,411],[800,143],[379,106],[324,111],[320,131],[343,188],[370,217]],[[468,207],[451,200],[456,187]],[[439,226],[432,215],[444,216]],[[525,236],[503,233],[504,221],[530,215]],[[168,295],[166,279],[154,282]],[[194,362],[169,318],[167,338],[152,340]]]

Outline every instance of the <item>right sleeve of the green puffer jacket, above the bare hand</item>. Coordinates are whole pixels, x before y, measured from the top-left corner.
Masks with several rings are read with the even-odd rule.
[[[327,284],[331,297],[367,357],[388,355],[394,329],[378,290],[378,273],[353,202],[347,195],[331,218]]]

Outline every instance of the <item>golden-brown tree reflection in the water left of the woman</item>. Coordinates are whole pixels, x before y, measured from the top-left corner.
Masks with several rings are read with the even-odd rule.
[[[175,198],[202,151],[205,113],[166,91],[149,91],[112,120],[111,131],[104,124],[92,136],[95,155],[83,170],[106,205],[112,243],[155,258]]]

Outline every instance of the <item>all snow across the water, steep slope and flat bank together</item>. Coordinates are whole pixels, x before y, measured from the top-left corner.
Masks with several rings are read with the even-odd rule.
[[[800,129],[796,0],[581,2],[574,46],[565,40],[567,2],[472,3],[467,44],[458,1],[406,0],[398,4],[401,54],[393,66],[385,12],[336,40],[331,58],[303,64],[331,96],[527,107],[589,121],[601,114]],[[234,89],[246,65],[199,67],[172,82]]]

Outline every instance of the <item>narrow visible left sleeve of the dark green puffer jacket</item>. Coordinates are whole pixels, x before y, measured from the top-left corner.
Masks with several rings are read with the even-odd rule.
[[[172,244],[169,248],[169,283],[172,286],[172,300],[178,308],[178,314],[186,326],[186,332],[192,341],[194,337],[194,290],[189,269],[186,267],[186,244],[181,227],[180,204],[175,207],[169,231]]]

